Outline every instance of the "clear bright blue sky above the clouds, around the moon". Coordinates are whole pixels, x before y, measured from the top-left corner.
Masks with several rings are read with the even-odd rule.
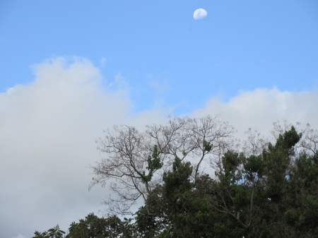
[[[137,112],[159,104],[183,114],[213,96],[227,101],[240,90],[318,85],[317,1],[1,1],[0,6],[1,92],[32,82],[30,65],[52,56],[86,57],[100,68],[105,87],[120,73]],[[205,8],[208,16],[194,20],[196,8]]]

